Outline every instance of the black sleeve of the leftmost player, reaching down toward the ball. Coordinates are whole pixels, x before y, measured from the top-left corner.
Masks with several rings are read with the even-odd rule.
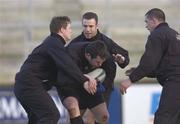
[[[52,46],[48,47],[48,53],[55,61],[58,71],[64,71],[68,76],[81,84],[88,80],[67,54],[63,45],[52,44]]]

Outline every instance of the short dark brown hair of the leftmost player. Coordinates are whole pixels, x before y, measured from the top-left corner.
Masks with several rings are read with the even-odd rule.
[[[50,23],[50,32],[58,33],[61,28],[66,29],[71,20],[67,16],[55,16]]]

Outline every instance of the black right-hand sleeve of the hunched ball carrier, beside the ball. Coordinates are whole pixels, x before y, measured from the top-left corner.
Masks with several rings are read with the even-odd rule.
[[[112,58],[108,58],[102,65],[106,76],[104,79],[105,88],[113,88],[114,87],[114,78],[116,76],[116,64]]]

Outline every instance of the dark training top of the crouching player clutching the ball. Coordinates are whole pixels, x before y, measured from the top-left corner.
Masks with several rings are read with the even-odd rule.
[[[85,58],[85,46],[87,44],[89,44],[89,42],[71,43],[66,47],[67,52],[73,58],[74,62],[78,65],[78,67],[84,74],[87,74],[95,69],[95,68],[92,68],[92,66],[89,64],[89,62]],[[114,78],[116,75],[116,65],[115,63],[112,63],[111,59],[112,58],[109,57],[102,64],[102,66],[99,67],[99,68],[102,68],[106,73],[105,80],[103,82],[105,87],[107,85],[112,85],[111,83],[114,81]],[[67,77],[62,72],[58,73],[58,77],[62,77],[62,75],[63,77]],[[66,82],[73,82],[73,80],[67,77],[67,79],[65,79],[64,82],[66,84]]]

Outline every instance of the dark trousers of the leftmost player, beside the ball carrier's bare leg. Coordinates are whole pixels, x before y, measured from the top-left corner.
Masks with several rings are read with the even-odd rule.
[[[41,87],[23,92],[19,100],[30,118],[33,113],[38,120],[59,119],[59,111],[54,101]]]

